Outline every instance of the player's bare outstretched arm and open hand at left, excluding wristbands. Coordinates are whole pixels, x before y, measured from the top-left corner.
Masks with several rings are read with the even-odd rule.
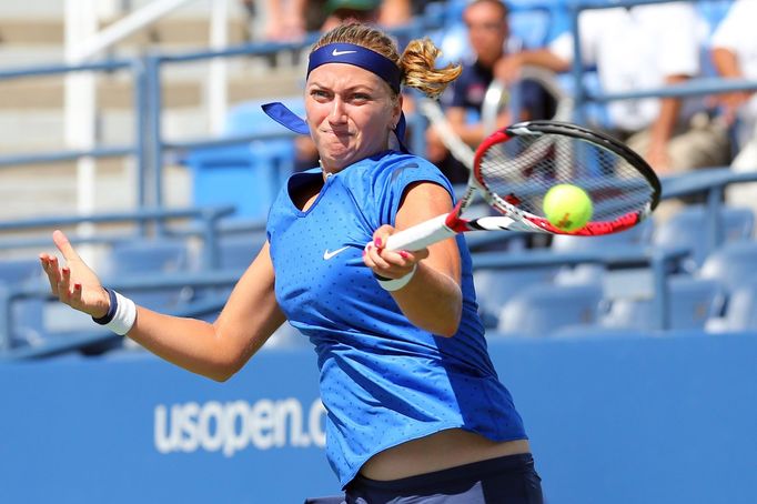
[[[95,317],[108,308],[108,294],[97,275],[81,261],[63,233],[53,240],[65,259],[41,254],[54,295]],[[274,273],[268,242],[236,283],[214,323],[165,315],[142,306],[127,334],[160,357],[216,381],[239,371],[285,321],[273,291]]]

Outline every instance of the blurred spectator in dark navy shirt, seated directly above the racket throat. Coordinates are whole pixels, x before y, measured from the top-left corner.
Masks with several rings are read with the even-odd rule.
[[[507,7],[499,0],[474,0],[463,11],[467,39],[473,51],[472,61],[463,63],[463,73],[443,95],[445,115],[457,135],[468,145],[476,147],[488,131],[484,131],[481,112],[486,90],[495,78],[513,83],[509,60],[515,58],[522,44],[511,37]],[[497,127],[518,120],[545,119],[554,100],[536,82],[519,82],[521,114],[509,115],[504,108],[497,118]],[[426,135],[427,158],[435,163],[453,183],[467,180],[467,169],[455,160],[441,142],[433,128]]]

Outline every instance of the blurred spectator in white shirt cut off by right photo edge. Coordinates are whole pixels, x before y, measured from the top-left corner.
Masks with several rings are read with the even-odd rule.
[[[757,80],[757,1],[736,0],[711,38],[713,63],[718,74],[729,79]],[[734,127],[740,149],[731,167],[735,171],[757,171],[757,93],[737,91],[719,97],[724,118]],[[757,188],[739,184],[729,188],[728,201],[750,206],[757,213]]]

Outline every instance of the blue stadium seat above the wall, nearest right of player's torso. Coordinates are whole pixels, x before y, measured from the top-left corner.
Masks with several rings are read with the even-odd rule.
[[[597,284],[531,285],[504,305],[493,335],[539,337],[568,325],[595,324],[602,296]]]

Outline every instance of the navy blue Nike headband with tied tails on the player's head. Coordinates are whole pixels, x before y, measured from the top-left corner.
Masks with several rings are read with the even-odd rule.
[[[354,64],[355,67],[360,67],[381,77],[395,93],[400,92],[400,83],[402,81],[400,68],[388,58],[362,46],[352,43],[330,43],[320,47],[310,54],[307,75],[317,67],[326,63]],[[271,119],[287,130],[300,134],[310,134],[307,122],[289,110],[283,103],[265,103],[262,105],[262,109]],[[405,127],[405,114],[402,113],[395,134],[400,141],[402,151],[408,152],[404,144]]]

